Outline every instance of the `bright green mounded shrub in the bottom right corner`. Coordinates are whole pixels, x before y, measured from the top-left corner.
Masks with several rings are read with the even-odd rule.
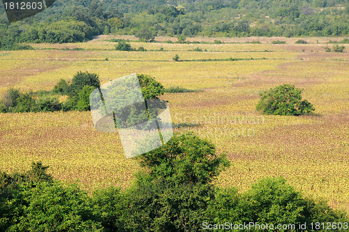
[[[242,194],[237,194],[237,189],[218,189],[207,214],[217,224],[255,222],[255,224],[298,225],[348,221],[345,214],[332,210],[326,203],[315,203],[309,198],[304,198],[282,177],[260,179]]]

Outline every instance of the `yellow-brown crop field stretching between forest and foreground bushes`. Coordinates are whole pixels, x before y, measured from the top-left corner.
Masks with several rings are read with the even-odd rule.
[[[187,125],[176,131],[194,131],[228,153],[232,165],[216,184],[244,191],[261,177],[283,176],[307,196],[349,212],[349,45],[340,53],[323,49],[329,39],[343,38],[303,38],[309,44],[295,44],[299,38],[249,40],[262,44],[244,43],[247,38],[224,44],[131,42],[147,52],[115,51],[116,43],[106,41],[110,38],[0,52],[0,95],[8,87],[52,89],[77,71],[98,73],[102,84],[144,73],[165,87],[202,89],[162,99],[169,101],[172,121]],[[286,44],[273,45],[274,40]],[[164,51],[156,51],[160,48]],[[195,48],[207,52],[189,51]],[[181,61],[172,61],[176,54]],[[238,60],[223,60],[230,57]],[[269,116],[255,110],[259,92],[284,83],[304,89],[316,115]],[[89,191],[127,187],[140,169],[137,158],[124,157],[116,133],[94,129],[89,112],[0,114],[0,140],[2,171],[24,171],[41,160],[57,179],[78,180]]]

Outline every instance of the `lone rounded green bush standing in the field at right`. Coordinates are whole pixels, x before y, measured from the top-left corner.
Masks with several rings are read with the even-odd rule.
[[[295,85],[280,85],[260,94],[262,98],[256,109],[266,115],[302,115],[315,110],[313,105],[302,100],[302,89]]]

